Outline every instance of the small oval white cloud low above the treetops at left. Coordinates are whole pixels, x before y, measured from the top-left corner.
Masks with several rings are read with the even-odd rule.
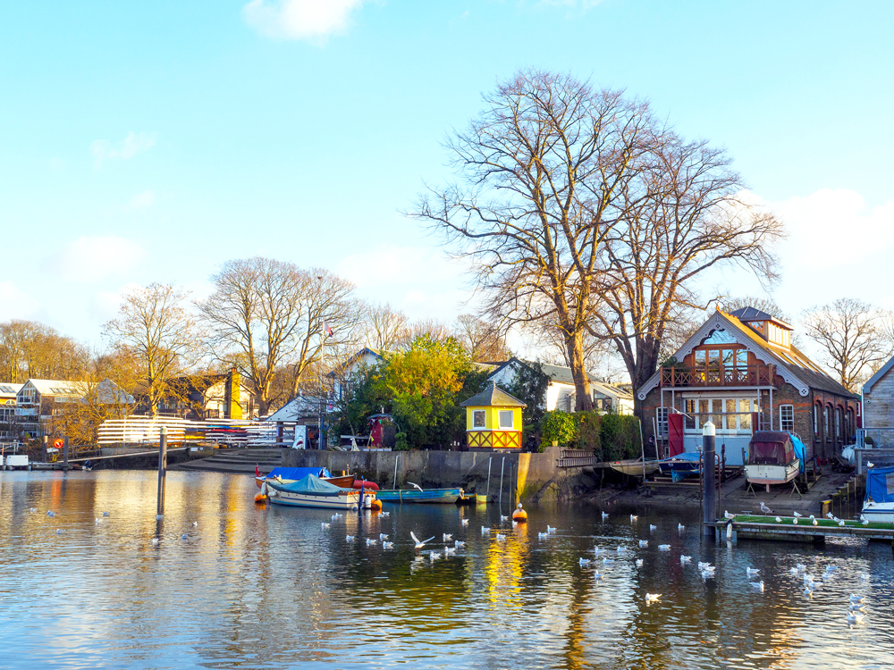
[[[63,280],[95,283],[106,277],[126,277],[145,255],[132,239],[81,237],[56,254],[51,267]]]

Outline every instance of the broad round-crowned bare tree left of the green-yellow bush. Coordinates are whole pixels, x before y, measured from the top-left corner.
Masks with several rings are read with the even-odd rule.
[[[212,281],[215,293],[198,305],[209,345],[250,380],[261,415],[298,393],[323,352],[324,325],[332,329],[333,343],[354,337],[353,286],[327,270],[255,257],[228,261]],[[274,384],[283,368],[288,381]],[[280,397],[284,389],[290,398]]]

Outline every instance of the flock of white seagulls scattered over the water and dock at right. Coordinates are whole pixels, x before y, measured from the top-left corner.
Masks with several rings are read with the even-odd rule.
[[[769,507],[766,507],[763,504],[763,502],[761,503],[761,511],[764,514],[768,514],[768,513],[772,514],[772,510]],[[384,512],[384,513],[380,514],[379,516],[386,516],[388,514],[389,513]],[[343,515],[336,513],[332,517],[332,522],[338,521],[340,518],[342,518],[342,516]],[[609,516],[610,515],[607,512],[602,513],[603,523],[608,521]],[[727,516],[727,518],[733,518],[735,515],[730,515],[730,513],[727,512],[726,516]],[[802,515],[799,515],[796,512],[795,513],[796,521],[797,521],[797,518],[801,518],[801,516]],[[828,516],[830,519],[839,521],[838,519],[835,519],[835,517],[833,517],[832,515],[828,515]],[[813,515],[811,515],[809,518],[811,520],[813,520],[815,523],[815,519],[814,519]],[[639,520],[638,515],[630,515],[630,523],[631,524],[637,523],[638,520]],[[779,519],[777,519],[777,521],[778,520]],[[511,521],[513,528],[518,525],[518,523],[516,523],[514,520],[510,520],[509,516],[505,516],[505,515],[500,516],[500,521],[501,521],[501,523]],[[321,526],[324,530],[326,530],[331,527],[332,522],[322,523]],[[460,522],[463,527],[468,526],[468,519],[460,519]],[[502,542],[502,541],[506,540],[506,534],[504,532],[499,532],[499,530],[493,529],[488,526],[484,526],[484,525],[481,526],[481,534],[483,536],[491,535],[492,531],[494,531],[494,530],[496,530],[496,532],[493,532],[493,540],[495,540],[497,542]],[[658,530],[657,525],[655,525],[654,523],[649,524],[649,532],[650,533],[653,533],[657,530]],[[678,533],[682,533],[685,530],[686,530],[685,525],[683,525],[682,523],[677,524],[677,532]],[[549,523],[547,523],[546,524],[546,532],[537,532],[537,539],[538,540],[549,540],[557,532],[558,532],[557,528],[554,528],[553,526],[549,525]],[[441,541],[443,542],[443,549],[435,549],[434,548],[433,543],[435,540],[437,540],[436,535],[433,535],[432,537],[430,537],[426,540],[419,540],[416,536],[416,532],[411,531],[409,533],[409,537],[413,541],[414,549],[417,549],[417,551],[425,549],[426,546],[430,546],[430,549],[426,553],[428,555],[429,561],[431,561],[432,563],[434,563],[434,561],[438,560],[439,558],[450,557],[452,555],[455,555],[457,549],[461,549],[462,547],[464,547],[466,545],[465,541],[453,540],[453,534],[450,532],[444,532],[441,535]],[[355,540],[355,537],[353,535],[346,535],[345,540],[348,542],[353,542]],[[449,542],[451,540],[453,540],[452,546],[449,544]],[[366,542],[367,542],[367,547],[375,545],[379,542],[381,542],[383,549],[392,549],[394,547],[394,542],[390,541],[389,536],[382,532],[379,533],[378,539],[367,538]],[[649,540],[639,540],[639,548],[640,549],[648,549],[648,547],[649,547]],[[659,544],[657,546],[657,549],[662,552],[670,552],[671,545],[670,544]],[[618,547],[616,549],[603,549],[601,547],[595,547],[593,550],[594,550],[595,557],[593,557],[593,558],[580,557],[578,559],[578,565],[580,565],[581,567],[585,567],[585,568],[596,568],[597,565],[601,564],[603,566],[602,567],[603,572],[600,572],[598,569],[595,569],[595,572],[593,574],[596,582],[605,582],[605,570],[610,568],[611,564],[615,563],[615,561],[618,558],[627,557],[629,554],[628,549],[625,547],[622,547],[620,545],[618,545]],[[611,557],[611,556],[613,556],[613,557]],[[601,560],[600,560],[600,558],[601,558]],[[679,557],[679,563],[680,563],[680,565],[691,565],[692,557],[681,554]],[[643,567],[643,564],[644,564],[643,558],[636,559],[637,568]],[[703,582],[707,582],[708,580],[714,579],[715,572],[717,569],[716,565],[712,565],[711,563],[707,563],[707,562],[703,562],[703,561],[698,561],[696,565],[698,566],[698,573],[701,575]],[[834,574],[835,570],[837,570],[837,569],[838,568],[835,565],[827,565],[825,572],[822,574],[822,577],[819,580],[816,580],[816,579],[814,579],[813,576],[811,576],[810,574],[807,574],[806,565],[799,563],[799,564],[797,564],[796,567],[791,568],[790,574],[793,576],[796,576],[796,577],[798,577],[798,576],[803,577],[804,595],[807,598],[813,598],[814,590],[816,590],[822,582],[826,582],[829,579],[831,579],[832,574]],[[764,590],[763,579],[761,579],[760,581],[756,581],[756,582],[751,581],[753,579],[757,579],[758,577],[760,577],[760,574],[761,574],[760,570],[753,568],[753,567],[746,567],[746,578],[748,579],[749,585],[756,592],[763,593],[763,590]],[[870,575],[864,573],[864,574],[860,575],[860,578],[863,581],[868,581],[870,579]],[[661,593],[646,593],[645,594],[645,605],[646,606],[651,605],[651,604],[657,602],[658,600],[660,600],[661,597],[662,597]],[[859,596],[856,593],[850,594],[850,597],[848,600],[848,624],[856,625],[856,624],[863,623],[863,620],[865,617],[864,607],[865,607],[865,599],[863,596]]]

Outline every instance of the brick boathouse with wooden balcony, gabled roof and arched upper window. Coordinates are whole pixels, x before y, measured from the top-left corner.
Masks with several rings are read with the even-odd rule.
[[[696,451],[708,421],[731,465],[742,463],[755,430],[795,432],[808,457],[821,459],[853,444],[860,398],[793,346],[792,330],[753,307],[704,322],[637,389],[660,456]]]

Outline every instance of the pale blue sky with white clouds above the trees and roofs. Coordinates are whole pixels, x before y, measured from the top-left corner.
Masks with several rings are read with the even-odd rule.
[[[473,311],[406,218],[443,140],[522,68],[651,101],[785,222],[793,316],[894,308],[894,3],[133,0],[0,4],[0,321],[98,344],[122,291],[204,297],[266,255],[413,318]],[[746,272],[707,290],[761,289]]]

